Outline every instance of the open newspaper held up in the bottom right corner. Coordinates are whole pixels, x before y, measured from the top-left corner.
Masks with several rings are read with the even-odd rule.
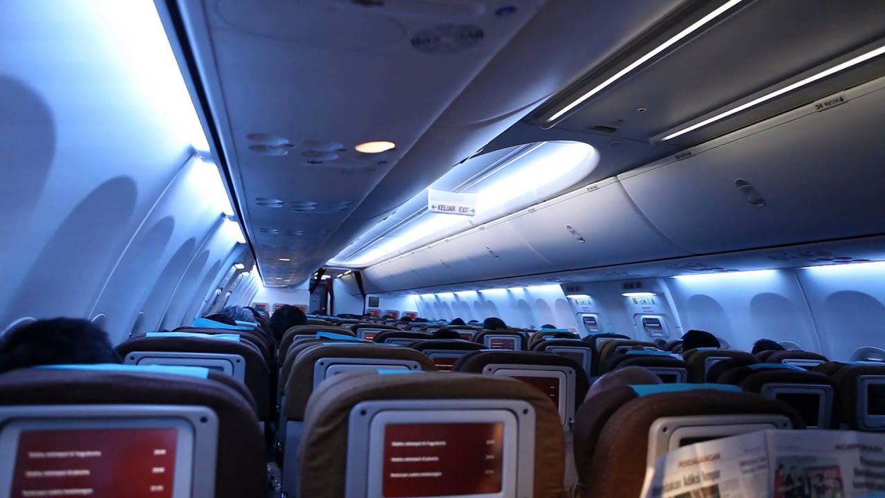
[[[643,498],[885,497],[885,434],[760,431],[661,455]]]

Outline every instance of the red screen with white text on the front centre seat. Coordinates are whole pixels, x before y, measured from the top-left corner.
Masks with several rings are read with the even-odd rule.
[[[504,424],[389,424],[384,429],[383,495],[500,493]]]

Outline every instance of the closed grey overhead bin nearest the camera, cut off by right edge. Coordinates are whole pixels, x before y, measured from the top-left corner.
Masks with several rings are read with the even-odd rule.
[[[619,175],[692,253],[881,233],[885,79]]]

